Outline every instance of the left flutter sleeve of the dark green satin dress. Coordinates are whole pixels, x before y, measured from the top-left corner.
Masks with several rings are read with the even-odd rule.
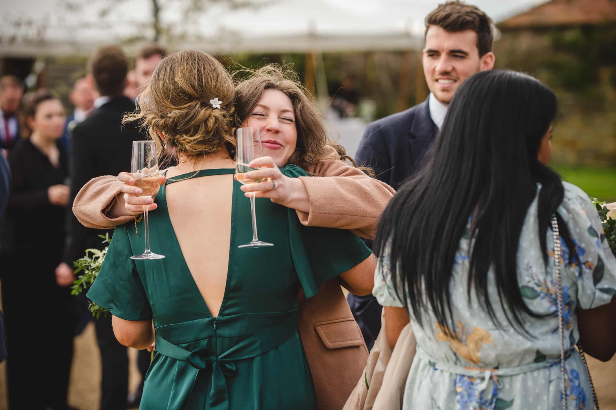
[[[116,227],[99,275],[86,296],[121,319],[148,320],[152,308],[131,256],[126,225]]]

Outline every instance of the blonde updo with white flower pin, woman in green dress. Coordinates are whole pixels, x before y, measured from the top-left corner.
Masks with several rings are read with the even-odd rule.
[[[197,50],[180,51],[158,63],[138,97],[136,112],[124,116],[124,122],[139,121],[156,141],[159,156],[166,145],[179,158],[205,157],[221,148],[233,157],[234,97],[233,80],[216,58]],[[214,98],[222,101],[221,108],[209,102]]]

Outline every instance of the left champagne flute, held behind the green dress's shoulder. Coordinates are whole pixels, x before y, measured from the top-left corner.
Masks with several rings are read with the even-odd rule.
[[[132,141],[131,173],[135,179],[135,186],[143,189],[142,198],[152,198],[160,189],[158,183],[158,158],[156,157],[156,144],[154,141]],[[144,236],[145,251],[140,255],[131,256],[131,259],[163,259],[150,251],[150,227],[148,224],[148,206],[144,205]]]

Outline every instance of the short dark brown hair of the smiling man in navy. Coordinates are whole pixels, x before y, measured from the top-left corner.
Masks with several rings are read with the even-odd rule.
[[[439,26],[450,33],[472,30],[477,33],[477,49],[479,57],[492,51],[494,31],[492,19],[482,12],[479,7],[466,4],[461,1],[448,1],[439,4],[426,17],[426,32],[430,26]]]

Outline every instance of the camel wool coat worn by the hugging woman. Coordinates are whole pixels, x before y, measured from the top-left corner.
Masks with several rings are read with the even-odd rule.
[[[333,148],[331,154],[331,159],[322,160],[309,170],[314,176],[299,178],[310,199],[309,213],[297,211],[299,221],[305,226],[349,229],[355,235],[372,239],[394,189],[334,157]],[[96,229],[132,222],[132,216],[107,216],[120,194],[121,184],[115,176],[99,176],[86,183],[73,203],[73,213],[79,222]],[[363,374],[368,349],[338,278],[323,283],[319,290],[310,299],[299,291],[299,333],[314,380],[318,409],[340,410]]]

